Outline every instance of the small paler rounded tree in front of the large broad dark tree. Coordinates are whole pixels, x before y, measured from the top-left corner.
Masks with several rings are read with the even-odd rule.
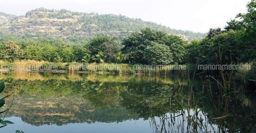
[[[148,64],[167,65],[173,62],[173,56],[167,45],[154,43],[145,49],[145,61]]]

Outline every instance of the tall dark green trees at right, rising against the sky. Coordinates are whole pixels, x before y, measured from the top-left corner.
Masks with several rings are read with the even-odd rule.
[[[208,36],[186,45],[186,62],[193,64],[230,64],[252,62],[256,58],[256,2],[247,4],[225,28],[210,29]]]

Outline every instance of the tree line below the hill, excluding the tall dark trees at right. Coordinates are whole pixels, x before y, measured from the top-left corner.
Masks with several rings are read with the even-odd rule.
[[[0,38],[0,59],[31,59],[49,62],[113,62],[170,64],[181,63],[185,56],[181,37],[150,28],[134,32],[120,42],[118,38],[96,36],[89,42],[72,43],[59,39]],[[123,54],[124,53],[124,54]]]

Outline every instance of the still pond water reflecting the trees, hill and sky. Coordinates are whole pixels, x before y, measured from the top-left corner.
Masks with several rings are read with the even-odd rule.
[[[185,77],[185,76],[184,76]],[[254,132],[256,98],[241,85],[182,76],[0,73],[1,132]],[[4,117],[4,116],[2,116]]]

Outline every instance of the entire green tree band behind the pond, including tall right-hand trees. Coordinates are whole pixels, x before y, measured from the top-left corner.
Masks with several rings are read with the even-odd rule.
[[[19,38],[2,35],[0,59],[49,62],[112,62],[131,64],[230,64],[252,62],[256,57],[256,2],[247,5],[227,26],[210,29],[202,40],[188,43],[181,37],[150,28],[133,32],[120,41],[96,36],[89,42],[65,39]]]

